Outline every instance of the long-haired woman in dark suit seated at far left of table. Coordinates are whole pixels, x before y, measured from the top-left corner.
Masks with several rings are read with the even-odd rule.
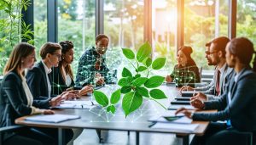
[[[15,125],[15,119],[25,115],[54,114],[54,111],[49,109],[38,109],[44,108],[49,100],[35,101],[26,84],[24,70],[31,69],[35,60],[35,47],[24,42],[16,45],[10,54],[3,70],[4,77],[0,89],[2,112],[0,127]],[[4,144],[51,144],[57,142],[55,138],[57,136],[50,137],[52,131],[53,129],[26,128],[16,131],[15,134],[5,133],[3,142]]]

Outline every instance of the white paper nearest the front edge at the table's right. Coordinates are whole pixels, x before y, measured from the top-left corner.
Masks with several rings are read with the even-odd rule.
[[[176,124],[176,123],[157,122],[156,124],[152,125],[151,128],[192,132],[192,131],[195,131],[195,129],[198,126],[199,126],[199,124]]]

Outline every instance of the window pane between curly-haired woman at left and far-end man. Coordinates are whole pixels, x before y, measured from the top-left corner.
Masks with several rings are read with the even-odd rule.
[[[95,8],[95,0],[58,0],[58,41],[74,44],[74,75],[86,47],[95,45]]]

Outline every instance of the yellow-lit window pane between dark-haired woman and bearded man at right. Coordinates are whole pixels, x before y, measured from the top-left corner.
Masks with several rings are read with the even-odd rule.
[[[193,47],[198,67],[210,67],[205,59],[205,44],[216,36],[228,36],[229,0],[185,0],[184,45]]]

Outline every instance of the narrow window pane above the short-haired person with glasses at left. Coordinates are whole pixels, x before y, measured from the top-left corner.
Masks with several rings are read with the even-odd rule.
[[[34,0],[34,40],[39,58],[39,49],[47,42],[47,0]]]

